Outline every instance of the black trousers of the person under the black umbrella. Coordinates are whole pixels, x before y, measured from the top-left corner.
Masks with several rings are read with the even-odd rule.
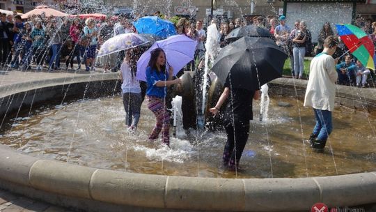
[[[225,166],[236,168],[249,137],[249,121],[235,121],[225,127],[227,142],[224,148],[223,162]]]

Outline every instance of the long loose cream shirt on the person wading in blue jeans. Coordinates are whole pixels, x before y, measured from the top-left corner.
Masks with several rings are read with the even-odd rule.
[[[304,107],[322,110],[334,110],[338,74],[333,57],[318,54],[311,61]]]

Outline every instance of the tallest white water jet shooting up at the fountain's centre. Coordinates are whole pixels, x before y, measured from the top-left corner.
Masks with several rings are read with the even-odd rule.
[[[207,80],[209,73],[209,65],[214,62],[215,57],[219,53],[219,32],[217,29],[217,24],[213,23],[207,27],[207,36],[205,43],[205,68],[203,75],[203,87],[202,87],[202,102],[201,111],[198,111],[197,115],[197,126],[198,128],[203,128],[205,126],[205,108],[206,108],[206,97],[207,97]],[[210,62],[210,63],[209,63]]]

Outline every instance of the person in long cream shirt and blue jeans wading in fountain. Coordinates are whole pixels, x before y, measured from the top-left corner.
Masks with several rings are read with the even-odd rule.
[[[336,63],[331,55],[336,52],[338,38],[329,36],[324,40],[324,50],[311,61],[309,80],[304,98],[304,107],[313,107],[316,125],[309,138],[311,147],[324,150],[327,139],[333,130],[331,112],[336,97]]]

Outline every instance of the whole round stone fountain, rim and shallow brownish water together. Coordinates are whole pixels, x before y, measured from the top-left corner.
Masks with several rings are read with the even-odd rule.
[[[308,146],[304,150],[308,167],[302,162],[301,143],[296,136],[301,128],[299,119],[308,136],[311,119],[304,117],[312,114],[310,109],[297,114],[291,95],[294,96],[295,89],[299,98],[304,95],[304,81],[278,79],[269,84],[272,98],[266,124],[273,146],[265,141],[265,123],[252,121],[251,141],[241,161],[246,169],[235,176],[217,167],[226,139],[223,132],[206,132],[199,138],[201,161],[198,167],[195,159],[198,149],[191,142],[191,130],[187,130],[186,139],[172,138],[171,150],[146,142],[147,132],[153,125],[152,114],[146,107],[141,112],[139,137],[123,133],[123,116],[119,115],[123,109],[119,109],[121,100],[116,96],[117,79],[116,73],[92,74],[3,86],[0,140],[22,154],[1,145],[1,188],[53,204],[93,211],[132,211],[144,207],[157,211],[304,211],[315,202],[328,202],[329,206],[376,202],[374,196],[369,195],[376,188],[375,151],[372,150],[375,135],[370,130],[367,135],[362,134],[361,144],[353,145],[360,134],[347,132],[348,128],[367,132],[368,126],[361,124],[361,120],[375,124],[373,114],[354,113],[346,107],[334,113],[336,132],[331,144],[336,153],[338,174],[344,175],[336,174],[331,154],[323,153],[318,157]],[[211,92],[216,80],[210,82]],[[190,93],[185,91],[189,87],[183,84],[182,101]],[[35,89],[38,89],[36,95]],[[364,100],[359,102],[359,94],[364,91],[356,91],[340,86],[338,103],[359,109],[366,106],[374,112],[376,95],[368,95],[365,105]],[[63,98],[64,103],[61,103]],[[175,100],[179,105],[180,98]],[[292,106],[279,107],[281,100]],[[104,107],[107,109],[103,110]],[[254,110],[259,109],[255,105]],[[73,140],[72,132],[75,133]],[[67,163],[70,144],[72,149]],[[269,153],[274,159],[274,179],[268,178]],[[352,174],[357,172],[369,173]],[[226,179],[235,177],[238,179]],[[252,179],[254,177],[266,179]],[[343,189],[347,191],[346,196],[342,195]],[[341,198],[334,199],[338,196]],[[228,198],[237,201],[227,201]]]

